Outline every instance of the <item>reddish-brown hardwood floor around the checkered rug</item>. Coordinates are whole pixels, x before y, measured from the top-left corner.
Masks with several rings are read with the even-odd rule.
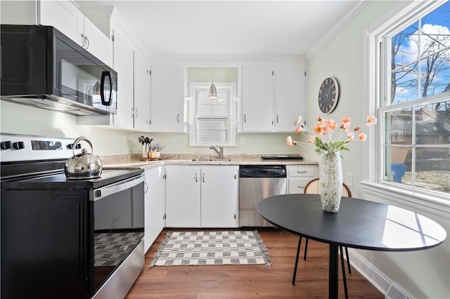
[[[307,260],[300,258],[292,284],[298,237],[283,230],[259,230],[269,249],[271,267],[263,265],[175,266],[147,265],[168,230],[146,253],[146,267],[127,299],[136,298],[328,298],[328,245],[309,240]],[[303,242],[304,243],[304,242]],[[300,255],[302,256],[303,247]],[[351,261],[351,259],[350,259]],[[341,272],[340,272],[341,274]],[[375,286],[352,268],[347,272],[349,298],[385,298]],[[339,297],[345,298],[342,277]]]

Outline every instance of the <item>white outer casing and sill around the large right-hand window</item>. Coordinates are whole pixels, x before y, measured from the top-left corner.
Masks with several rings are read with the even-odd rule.
[[[427,15],[446,1],[401,1],[397,6],[380,18],[363,32],[363,69],[364,69],[364,115],[377,115],[380,119],[382,91],[385,89],[381,81],[380,58],[382,48],[380,43],[383,36],[392,34],[392,28],[408,25],[418,15]],[[378,129],[377,129],[378,128]],[[364,142],[363,181],[361,182],[364,192],[375,197],[404,204],[411,208],[439,215],[450,219],[450,196],[442,192],[421,190],[411,188],[394,182],[380,180],[383,178],[382,166],[383,152],[380,150],[380,140],[383,132],[380,126],[369,128],[369,135],[375,134],[376,138],[370,138]],[[373,159],[376,157],[376,159]]]

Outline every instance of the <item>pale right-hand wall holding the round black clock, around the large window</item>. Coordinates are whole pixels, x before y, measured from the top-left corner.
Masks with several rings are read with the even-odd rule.
[[[353,124],[364,124],[363,115],[363,32],[398,1],[371,1],[356,17],[349,22],[324,48],[309,61],[309,119],[318,115],[340,120],[349,116]],[[340,101],[332,114],[321,114],[317,105],[319,86],[326,77],[335,77],[340,83]],[[364,127],[364,126],[361,126]],[[373,138],[373,136],[368,136]],[[344,178],[347,173],[354,174],[354,197],[386,202],[378,197],[368,197],[361,188],[363,155],[361,142],[351,146],[353,152],[345,152],[343,161]],[[304,153],[307,158],[314,152]],[[404,207],[411,210],[409,207]],[[442,225],[449,236],[450,222],[424,211],[416,211]],[[370,211],[367,211],[370,213]],[[413,298],[450,298],[450,252],[449,237],[444,244],[425,251],[403,253],[383,253],[375,251],[357,251],[370,262],[374,272],[380,271],[378,278],[385,275],[386,281],[394,281]],[[352,261],[352,258],[350,258]],[[371,275],[371,273],[368,273]],[[373,273],[372,273],[373,274]],[[350,274],[351,275],[351,274]],[[375,280],[377,277],[375,277]],[[375,281],[376,282],[376,281]]]

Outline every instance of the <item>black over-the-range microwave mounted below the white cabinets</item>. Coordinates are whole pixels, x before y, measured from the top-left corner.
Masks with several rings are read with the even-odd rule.
[[[1,100],[74,115],[117,113],[117,72],[51,26],[1,25]]]

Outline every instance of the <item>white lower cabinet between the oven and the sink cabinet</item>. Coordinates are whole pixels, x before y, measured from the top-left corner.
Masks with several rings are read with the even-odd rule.
[[[165,166],[146,169],[145,213],[145,252],[153,244],[165,227]]]

